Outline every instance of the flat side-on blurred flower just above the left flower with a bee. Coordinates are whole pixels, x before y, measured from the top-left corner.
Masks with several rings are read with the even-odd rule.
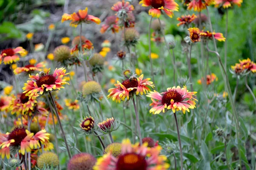
[[[29,65],[25,65],[24,67],[17,67],[13,72],[14,74],[20,74],[23,72],[32,73],[34,71],[42,71],[41,68],[44,68],[44,67],[45,67],[45,62],[39,62],[37,65],[29,64]]]

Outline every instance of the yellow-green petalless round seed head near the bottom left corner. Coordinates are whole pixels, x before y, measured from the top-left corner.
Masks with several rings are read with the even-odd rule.
[[[53,152],[42,153],[37,159],[38,168],[43,169],[44,166],[56,168],[59,166],[58,156]]]

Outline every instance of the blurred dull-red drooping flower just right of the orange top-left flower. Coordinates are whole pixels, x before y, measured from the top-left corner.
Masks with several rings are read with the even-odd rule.
[[[119,31],[118,18],[115,15],[107,17],[105,24],[102,25],[100,33],[105,33],[107,30],[111,30],[112,33],[117,33]]]

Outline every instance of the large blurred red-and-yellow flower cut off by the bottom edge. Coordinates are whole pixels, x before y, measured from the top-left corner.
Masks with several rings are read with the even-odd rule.
[[[160,155],[161,147],[147,147],[131,144],[129,139],[124,139],[121,154],[114,157],[111,151],[99,158],[93,170],[167,170],[170,166],[166,163],[166,156]]]

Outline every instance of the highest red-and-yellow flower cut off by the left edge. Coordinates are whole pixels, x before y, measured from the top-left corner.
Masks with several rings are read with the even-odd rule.
[[[20,60],[20,57],[17,54],[23,53],[24,51],[25,49],[22,47],[7,48],[5,50],[2,50],[0,54],[0,62],[2,62],[3,60],[3,63],[5,65],[17,62]]]

